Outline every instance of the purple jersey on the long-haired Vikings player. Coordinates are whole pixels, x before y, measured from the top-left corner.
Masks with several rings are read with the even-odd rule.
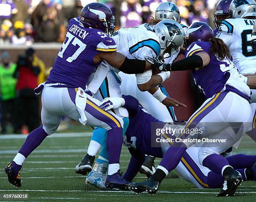
[[[210,56],[210,63],[200,70],[192,70],[195,83],[205,94],[206,99],[226,89],[226,82],[230,77],[230,69],[235,68],[232,61],[224,59],[220,61],[210,52],[211,43],[196,41],[186,50],[185,56],[189,57],[199,52],[206,52]]]

